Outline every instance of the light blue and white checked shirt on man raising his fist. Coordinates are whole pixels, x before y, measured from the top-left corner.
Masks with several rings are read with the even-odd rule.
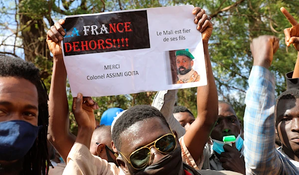
[[[299,167],[275,149],[275,78],[253,66],[244,114],[246,175],[299,175]]]

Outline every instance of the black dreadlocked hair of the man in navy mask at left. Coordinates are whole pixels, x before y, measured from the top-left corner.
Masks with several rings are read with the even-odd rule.
[[[49,172],[49,155],[47,133],[49,124],[47,89],[40,80],[39,70],[32,63],[19,58],[0,55],[0,77],[25,79],[35,85],[38,93],[38,126],[39,130],[33,146],[23,159],[21,175],[47,175]]]

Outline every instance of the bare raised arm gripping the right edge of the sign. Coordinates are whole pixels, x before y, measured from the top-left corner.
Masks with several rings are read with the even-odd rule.
[[[184,142],[193,159],[198,160],[218,119],[218,96],[208,51],[208,40],[212,34],[213,24],[207,19],[208,16],[203,9],[195,7],[192,13],[197,14],[194,22],[197,29],[202,32],[208,82],[206,86],[197,87],[197,118],[186,131]]]

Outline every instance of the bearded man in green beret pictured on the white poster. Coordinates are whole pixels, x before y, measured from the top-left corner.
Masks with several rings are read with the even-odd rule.
[[[192,68],[194,64],[193,59],[193,55],[188,50],[179,50],[175,52],[178,81],[174,84],[198,82],[200,80],[200,76]]]

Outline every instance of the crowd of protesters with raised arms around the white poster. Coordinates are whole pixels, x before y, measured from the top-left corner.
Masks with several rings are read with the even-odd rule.
[[[284,30],[285,43],[299,53],[299,24],[281,11],[292,25]],[[253,39],[242,125],[234,106],[218,100],[208,50],[210,17],[199,7],[192,13],[207,75],[207,85],[197,87],[196,117],[175,106],[177,90],[164,90],[151,106],[112,108],[97,124],[97,102],[78,93],[72,105],[75,136],[59,44],[64,20],[47,32],[53,54],[49,95],[32,63],[0,56],[0,175],[299,175],[299,54],[294,71],[286,74],[287,90],[276,99],[269,68],[279,39]],[[227,144],[227,136],[234,142]]]

